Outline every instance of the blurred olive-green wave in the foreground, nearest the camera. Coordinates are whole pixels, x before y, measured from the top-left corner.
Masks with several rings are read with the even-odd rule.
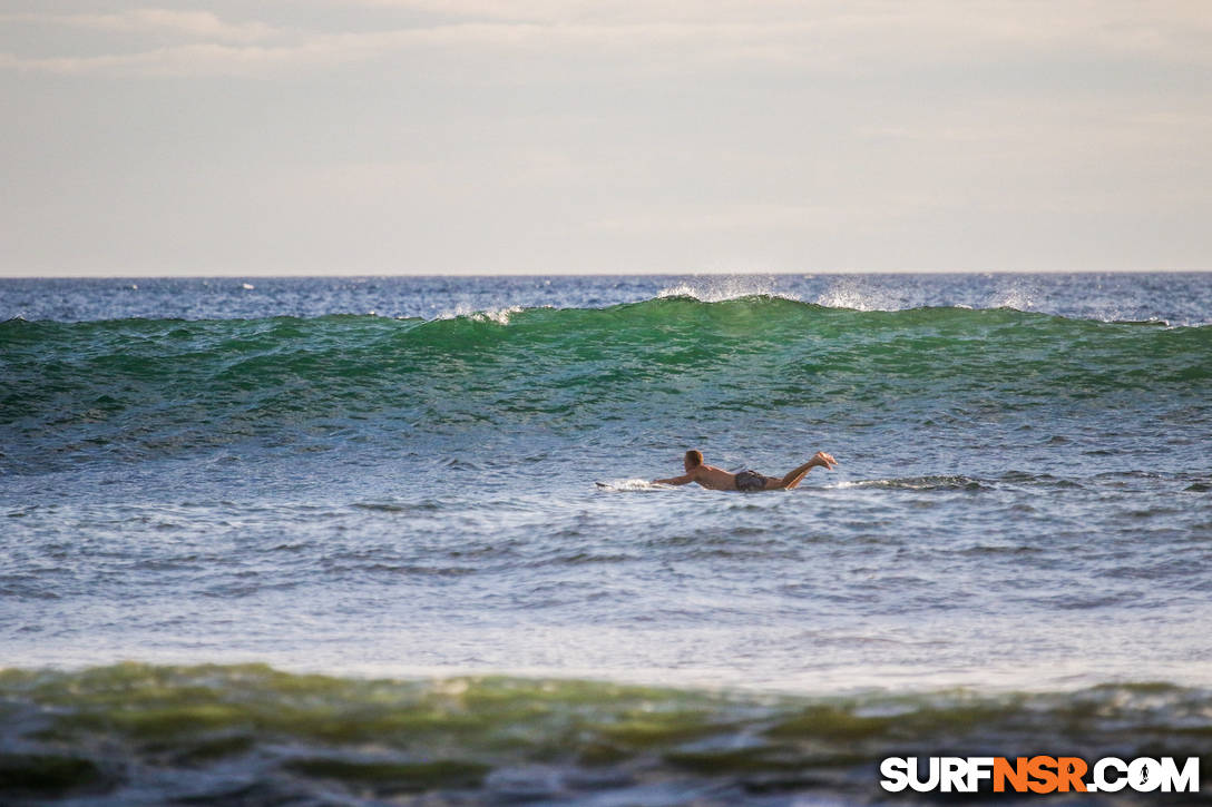
[[[802,698],[576,680],[390,681],[290,675],[264,665],[0,674],[10,796],[265,803],[314,792],[446,794],[704,803],[812,789],[877,799],[886,756],[1064,752],[1193,756],[1212,742],[1212,699],[1167,685],[1076,693]],[[339,795],[337,797],[341,797]],[[1114,802],[1114,799],[1111,800]]]

